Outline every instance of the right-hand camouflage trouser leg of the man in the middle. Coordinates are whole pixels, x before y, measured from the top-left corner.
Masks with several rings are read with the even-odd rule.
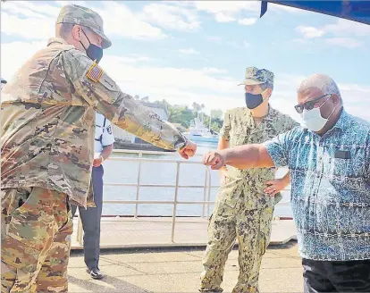
[[[237,215],[240,275],[232,293],[258,291],[261,261],[271,236],[273,207],[244,210]]]

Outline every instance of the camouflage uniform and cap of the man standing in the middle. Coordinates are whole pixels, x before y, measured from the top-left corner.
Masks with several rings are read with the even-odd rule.
[[[257,72],[249,68],[245,82],[272,81],[272,72],[267,71],[262,77]],[[267,116],[256,126],[250,110],[242,107],[225,113],[221,136],[230,141],[230,147],[260,144],[297,125],[269,106]],[[223,290],[220,286],[224,265],[238,239],[240,275],[232,292],[258,292],[259,268],[270,241],[273,207],[282,196],[270,197],[264,192],[265,181],[274,179],[274,168],[240,170],[228,166],[228,170],[229,180],[220,188],[208,225],[200,291]]]

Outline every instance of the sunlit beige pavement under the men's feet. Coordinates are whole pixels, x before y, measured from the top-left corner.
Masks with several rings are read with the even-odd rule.
[[[69,292],[196,293],[205,247],[125,248],[101,251],[105,279],[92,280],[83,253],[71,252]],[[225,266],[223,292],[231,292],[239,274],[237,247]],[[260,292],[303,292],[297,242],[268,247],[259,277]]]

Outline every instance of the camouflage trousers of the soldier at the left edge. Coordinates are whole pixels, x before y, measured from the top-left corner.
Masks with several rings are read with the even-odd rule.
[[[5,188],[1,195],[1,292],[67,292],[67,196],[45,188]]]

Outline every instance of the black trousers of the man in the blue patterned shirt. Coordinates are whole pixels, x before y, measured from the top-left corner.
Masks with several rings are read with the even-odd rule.
[[[328,262],[303,259],[305,293],[370,293],[370,260]]]

